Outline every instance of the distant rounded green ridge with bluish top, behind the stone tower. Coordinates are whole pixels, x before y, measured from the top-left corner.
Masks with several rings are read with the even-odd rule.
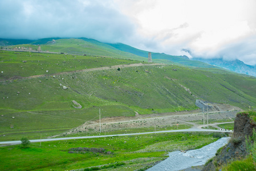
[[[52,41],[53,39],[55,39],[55,42]],[[133,59],[145,62],[148,61],[148,51],[139,50],[137,48],[128,46],[123,43],[103,43],[95,39],[88,38],[46,38],[35,40],[34,42],[32,42],[32,40],[30,42],[24,41],[25,43],[30,43],[26,45],[23,45],[25,43],[17,44],[19,42],[22,41],[17,40],[15,46],[9,46],[8,48],[31,47],[33,50],[37,50],[38,46],[36,45],[40,44],[42,51],[64,52],[68,54],[111,56],[112,58]],[[166,64],[175,62],[177,64],[186,65],[190,67],[214,68],[214,66],[210,64],[198,62],[196,60],[190,60],[186,56],[173,56],[152,52],[152,59],[153,62],[160,62]]]

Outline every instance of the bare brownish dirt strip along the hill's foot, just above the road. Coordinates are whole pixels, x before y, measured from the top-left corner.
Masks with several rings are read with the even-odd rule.
[[[232,120],[237,115],[238,111],[216,111],[208,114],[209,120]],[[133,117],[107,117],[101,119],[101,130],[115,131],[118,129],[132,128],[168,128],[176,124],[192,125],[194,129],[200,129],[204,125],[194,123],[193,121],[202,121],[204,113],[196,111],[182,111],[171,113],[160,113],[151,115],[135,115]],[[230,123],[230,122],[228,122]],[[209,123],[209,125],[217,125],[220,123]],[[87,121],[77,128],[71,129],[66,134],[76,132],[98,131],[99,120]],[[215,126],[217,127],[217,126]]]

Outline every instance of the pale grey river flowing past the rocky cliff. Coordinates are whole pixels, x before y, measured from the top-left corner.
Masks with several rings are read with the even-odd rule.
[[[221,139],[206,145],[200,149],[188,150],[186,153],[171,152],[166,160],[149,168],[148,171],[156,170],[182,170],[190,168],[191,166],[204,165],[206,161],[214,157],[217,150],[226,145],[229,137],[222,137]]]

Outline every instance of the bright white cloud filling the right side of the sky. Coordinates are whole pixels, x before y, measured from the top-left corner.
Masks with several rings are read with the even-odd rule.
[[[145,47],[147,50],[184,55],[188,52],[182,50],[187,49],[192,56],[201,58],[240,59],[256,63],[253,39],[256,35],[256,1],[116,2],[121,4],[123,13],[135,18],[141,41],[147,42],[144,45],[150,44]],[[249,39],[251,43],[247,43]]]

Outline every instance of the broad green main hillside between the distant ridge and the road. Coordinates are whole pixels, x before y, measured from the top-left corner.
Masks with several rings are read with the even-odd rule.
[[[196,99],[243,109],[256,104],[255,78],[214,68],[159,64],[102,70],[139,61],[10,51],[0,51],[0,57],[0,140],[55,135],[98,119],[99,108],[101,117],[111,117],[192,110]]]

